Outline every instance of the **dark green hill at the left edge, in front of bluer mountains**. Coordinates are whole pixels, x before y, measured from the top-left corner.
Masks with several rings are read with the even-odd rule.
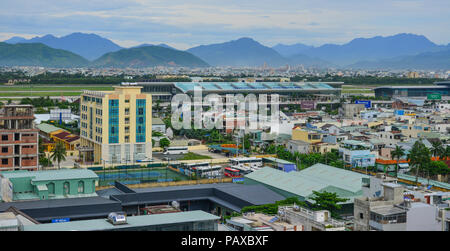
[[[85,58],[44,44],[8,44],[0,42],[1,66],[82,67]]]

